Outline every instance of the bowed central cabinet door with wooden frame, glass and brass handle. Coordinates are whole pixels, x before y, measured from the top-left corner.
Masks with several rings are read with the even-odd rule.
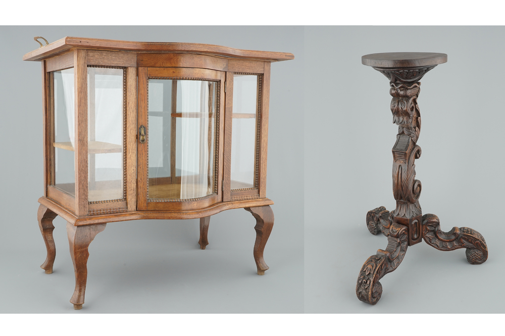
[[[222,199],[223,77],[206,69],[139,68],[139,209],[196,209]]]

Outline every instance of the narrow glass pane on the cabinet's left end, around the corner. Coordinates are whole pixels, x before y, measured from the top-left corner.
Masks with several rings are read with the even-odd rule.
[[[52,184],[75,197],[74,69],[51,73],[54,111],[54,181]]]

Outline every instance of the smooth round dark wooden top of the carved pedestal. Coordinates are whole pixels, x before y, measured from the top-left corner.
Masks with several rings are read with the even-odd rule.
[[[439,52],[381,52],[361,58],[361,63],[374,68],[425,67],[447,62],[447,54]]]

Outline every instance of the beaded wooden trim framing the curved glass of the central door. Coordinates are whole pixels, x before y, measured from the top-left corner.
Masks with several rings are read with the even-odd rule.
[[[147,77],[147,130],[149,130],[149,79],[166,79],[166,80],[190,80],[190,81],[206,81],[206,82],[215,82],[216,86],[216,122],[214,125],[214,131],[216,133],[216,141],[214,144],[214,193],[198,197],[198,198],[149,198],[149,132],[146,132],[146,150],[147,150],[147,201],[148,202],[191,202],[191,201],[199,201],[206,198],[210,198],[218,194],[218,172],[219,172],[219,117],[220,117],[220,98],[221,98],[221,82],[216,79],[210,78],[200,78],[200,77]]]

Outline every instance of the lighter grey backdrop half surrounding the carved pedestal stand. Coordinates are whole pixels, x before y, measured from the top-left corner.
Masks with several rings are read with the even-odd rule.
[[[307,313],[503,313],[502,96],[505,27],[305,28],[305,311]],[[443,52],[445,64],[421,79],[422,128],[416,179],[423,213],[442,230],[470,227],[489,258],[471,265],[465,250],[425,242],[381,280],[375,306],[355,288],[363,263],[387,239],[366,213],[393,210],[388,79],[361,64],[376,52]]]

